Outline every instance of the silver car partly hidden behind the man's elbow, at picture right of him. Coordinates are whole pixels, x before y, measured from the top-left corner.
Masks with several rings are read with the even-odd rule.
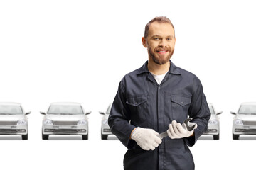
[[[208,122],[208,129],[206,130],[206,132],[203,133],[203,135],[213,135],[213,140],[219,140],[220,118],[218,118],[218,115],[220,115],[223,112],[220,111],[217,113],[212,103],[208,103],[208,106],[210,109],[210,120]]]

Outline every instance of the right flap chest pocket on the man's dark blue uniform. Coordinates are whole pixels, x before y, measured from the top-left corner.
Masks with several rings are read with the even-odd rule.
[[[188,118],[188,108],[191,104],[191,97],[171,95],[171,111],[174,120],[182,123]]]

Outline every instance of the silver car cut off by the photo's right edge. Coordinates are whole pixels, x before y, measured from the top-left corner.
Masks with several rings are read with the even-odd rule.
[[[238,113],[231,111],[233,118],[233,140],[240,135],[256,135],[256,102],[241,103]]]

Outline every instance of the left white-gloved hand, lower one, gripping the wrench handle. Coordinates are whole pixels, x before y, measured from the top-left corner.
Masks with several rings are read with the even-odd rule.
[[[144,150],[154,150],[161,144],[161,139],[157,137],[158,132],[152,129],[136,128],[132,133],[132,140],[135,140],[139,147]]]

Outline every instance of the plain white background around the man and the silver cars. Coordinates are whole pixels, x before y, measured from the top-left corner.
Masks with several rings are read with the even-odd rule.
[[[191,147],[196,169],[254,169],[255,136],[232,140],[230,111],[255,101],[253,1],[0,1],[0,101],[29,118],[27,141],[0,136],[0,169],[122,169],[126,148],[100,140],[105,111],[124,74],[147,60],[144,26],[167,16],[176,30],[171,60],[196,74],[220,115],[220,140]],[[55,101],[82,103],[89,140],[41,140],[39,111]]]

